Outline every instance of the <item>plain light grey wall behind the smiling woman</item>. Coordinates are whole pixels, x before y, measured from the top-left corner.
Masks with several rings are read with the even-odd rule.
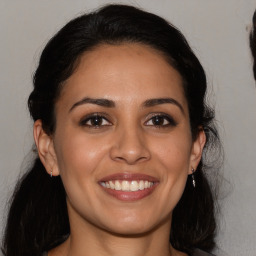
[[[71,18],[108,2],[0,0],[1,227],[6,200],[27,165],[33,144],[26,100],[40,52]],[[143,7],[174,23],[202,62],[226,152],[218,245],[230,256],[256,256],[256,87],[248,46],[256,1],[120,2]]]

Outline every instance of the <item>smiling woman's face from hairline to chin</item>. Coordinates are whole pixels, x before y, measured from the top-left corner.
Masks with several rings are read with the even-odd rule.
[[[56,103],[46,160],[63,181],[71,228],[170,228],[200,136],[192,141],[181,76],[156,50],[127,43],[85,53]]]

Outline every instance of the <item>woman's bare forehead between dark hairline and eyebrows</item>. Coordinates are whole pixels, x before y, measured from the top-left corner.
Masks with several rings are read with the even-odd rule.
[[[101,97],[118,103],[167,96],[186,105],[180,74],[159,51],[125,43],[100,45],[84,53],[64,83],[60,101]]]

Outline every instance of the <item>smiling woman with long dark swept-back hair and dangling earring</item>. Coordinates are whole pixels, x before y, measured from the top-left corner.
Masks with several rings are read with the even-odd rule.
[[[205,93],[185,38],[154,14],[108,5],[64,26],[34,75],[38,155],[14,193],[4,254],[208,255],[203,161],[218,136]]]

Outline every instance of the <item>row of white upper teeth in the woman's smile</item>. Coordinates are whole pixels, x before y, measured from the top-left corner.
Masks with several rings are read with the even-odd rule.
[[[139,191],[150,188],[154,185],[154,182],[144,181],[144,180],[110,180],[108,182],[101,182],[103,187],[114,189],[114,190],[122,190],[122,191]]]

